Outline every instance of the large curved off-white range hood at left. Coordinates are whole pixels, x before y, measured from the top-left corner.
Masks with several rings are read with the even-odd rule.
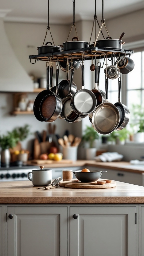
[[[0,92],[32,92],[33,81],[30,79],[7,38],[4,17],[10,10],[0,10]]]

